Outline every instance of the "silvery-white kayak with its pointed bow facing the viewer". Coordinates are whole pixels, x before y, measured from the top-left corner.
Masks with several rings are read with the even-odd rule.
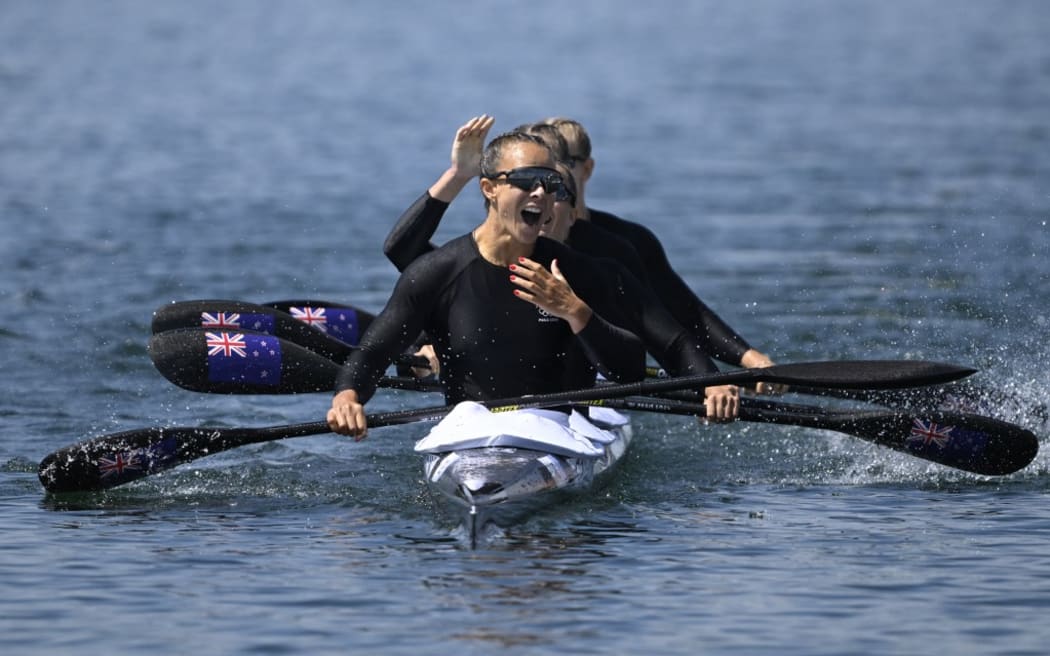
[[[415,450],[435,503],[456,517],[471,547],[566,495],[593,489],[631,443],[629,419],[605,407],[589,419],[549,409],[491,412],[463,402]]]

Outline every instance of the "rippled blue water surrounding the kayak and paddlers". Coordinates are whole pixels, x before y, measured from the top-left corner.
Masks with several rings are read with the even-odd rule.
[[[4,653],[1044,653],[1045,454],[986,479],[838,433],[638,416],[609,487],[479,551],[424,494],[422,425],[71,499],[36,465],[129,428],[319,419],[323,395],[174,388],[150,313],[378,310],[385,231],[482,112],[583,120],[592,204],[649,224],[777,360],[973,364],[1045,436],[1024,411],[1050,396],[1045,3],[8,0],[0,17]],[[479,208],[465,194],[439,238]]]

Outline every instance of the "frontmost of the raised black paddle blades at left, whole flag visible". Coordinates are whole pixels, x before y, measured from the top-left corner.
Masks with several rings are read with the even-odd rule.
[[[273,335],[186,329],[153,335],[149,357],[185,389],[210,394],[332,392],[339,365]]]

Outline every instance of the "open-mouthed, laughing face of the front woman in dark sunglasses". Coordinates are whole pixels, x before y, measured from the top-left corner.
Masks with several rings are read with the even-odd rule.
[[[548,192],[544,185],[526,191],[509,184],[506,174],[497,172],[514,171],[527,167],[553,169],[554,160],[550,150],[532,141],[511,141],[501,148],[494,165],[492,177],[482,177],[481,191],[488,202],[488,217],[495,221],[500,232],[516,241],[533,244],[540,236],[543,225],[550,220],[554,205],[553,190]],[[551,171],[553,173],[553,171]]]

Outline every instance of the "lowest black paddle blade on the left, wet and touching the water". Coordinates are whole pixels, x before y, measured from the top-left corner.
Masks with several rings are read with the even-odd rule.
[[[114,432],[59,449],[38,477],[48,492],[104,490],[227,449],[328,432],[313,422],[268,428],[143,428]]]

